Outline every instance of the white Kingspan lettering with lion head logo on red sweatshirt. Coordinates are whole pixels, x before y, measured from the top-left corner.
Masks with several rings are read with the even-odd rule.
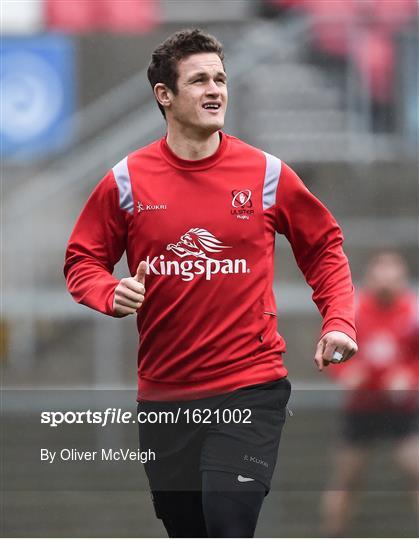
[[[181,276],[182,281],[191,281],[199,275],[204,275],[209,281],[216,274],[248,274],[250,269],[246,259],[219,261],[209,256],[231,247],[224,245],[206,229],[189,229],[180,237],[179,242],[167,246],[167,250],[173,251],[180,259],[188,259],[167,261],[164,255],[153,258],[147,256],[147,273],[155,276]],[[190,260],[190,257],[193,259]]]

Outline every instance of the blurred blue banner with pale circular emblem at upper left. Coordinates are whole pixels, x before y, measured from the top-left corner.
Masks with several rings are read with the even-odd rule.
[[[9,159],[37,159],[71,139],[75,106],[73,41],[66,36],[2,38],[1,148]]]

